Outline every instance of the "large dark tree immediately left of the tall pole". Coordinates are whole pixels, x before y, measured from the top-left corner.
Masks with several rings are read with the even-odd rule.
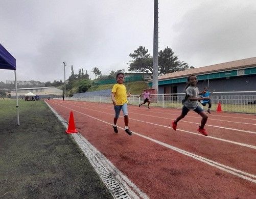
[[[143,46],[139,46],[134,53],[130,53],[129,56],[133,59],[130,61],[128,71],[143,72],[149,74],[153,73],[153,59],[148,53],[148,49]]]

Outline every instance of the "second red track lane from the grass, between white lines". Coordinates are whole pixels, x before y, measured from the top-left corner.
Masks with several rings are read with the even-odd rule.
[[[81,111],[81,109],[82,109],[76,105],[72,105],[72,106],[74,109],[78,108],[79,111]],[[102,118],[103,115],[107,114],[106,112],[102,114],[101,111],[92,110],[90,108],[91,108],[91,105],[89,106],[89,108],[85,108],[86,112],[94,117]],[[110,118],[109,118],[109,116],[110,116]],[[107,118],[105,118],[104,120],[108,120],[109,123],[112,123],[112,118],[114,116],[111,113],[109,113],[109,116],[107,116]],[[121,124],[122,124],[123,119],[120,118],[120,120],[119,120],[119,123],[121,122]],[[133,124],[133,122],[132,122],[132,124]],[[135,125],[136,125],[136,123],[135,123]],[[218,140],[212,141],[212,140],[208,139],[208,137],[201,136],[200,134],[195,135],[198,137],[197,138],[193,135],[191,136],[188,133],[180,134],[180,132],[173,131],[172,129],[171,129],[171,131],[173,131],[173,132],[171,134],[170,134],[170,131],[166,130],[166,129],[164,130],[164,133],[162,133],[163,132],[162,127],[156,128],[154,131],[152,131],[151,126],[149,126],[148,124],[145,124],[145,123],[143,124],[142,122],[139,122],[137,124],[137,126],[135,126],[134,129],[139,129],[139,128],[144,129],[142,131],[142,134],[146,133],[146,135],[149,135],[150,137],[159,139],[161,141],[164,141],[165,143],[174,145],[175,147],[179,147],[179,148],[191,151],[191,152],[196,152],[197,154],[203,155],[206,158],[210,158],[210,159],[213,158],[215,161],[234,166],[238,169],[242,169],[242,168],[244,169],[244,168],[248,167],[248,165],[251,165],[251,161],[253,161],[253,159],[251,160],[251,158],[249,158],[251,156],[251,154],[255,152],[255,150],[253,150],[253,149],[245,149],[244,147],[234,146],[234,144],[229,144],[229,143],[227,145],[223,145],[223,143],[221,143]],[[133,130],[132,128],[130,128],[130,129]],[[156,130],[161,133],[156,134],[155,133]],[[219,146],[221,146],[221,147],[219,147]],[[232,149],[232,152],[230,152],[230,149]],[[241,151],[243,154],[242,156],[240,155]],[[222,158],[223,156],[227,156],[227,158],[224,159],[225,160],[224,162],[223,162],[223,158]],[[251,172],[253,170],[254,170],[254,167],[252,167],[249,171]]]

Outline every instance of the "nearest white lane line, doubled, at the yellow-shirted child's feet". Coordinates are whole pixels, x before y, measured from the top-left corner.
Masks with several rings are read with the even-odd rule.
[[[60,104],[57,104],[57,105],[60,105]],[[63,105],[60,105],[60,106],[63,106]],[[66,106],[63,106],[63,107],[68,108],[68,107],[66,107]],[[69,109],[71,109],[71,108],[69,108]],[[87,117],[89,117],[89,118],[93,118],[93,119],[98,120],[98,121],[101,121],[101,122],[103,122],[103,123],[112,125],[111,123],[108,123],[108,122],[103,121],[103,120],[100,120],[100,119],[98,119],[98,118],[89,116],[89,115],[87,115],[87,114],[85,114],[85,113],[83,113],[83,112],[77,111],[77,110],[75,110],[75,109],[72,109],[72,110],[73,110],[73,111],[76,111],[76,112],[78,112],[78,113],[80,113],[81,115],[85,115],[85,116],[87,116]],[[119,127],[119,126],[118,126],[118,127]],[[119,128],[121,128],[121,127],[119,127]],[[121,129],[123,129],[123,128],[121,128]],[[249,173],[243,172],[242,170],[238,170],[238,169],[236,169],[236,168],[232,168],[232,167],[226,166],[226,165],[224,165],[224,164],[220,164],[220,163],[215,162],[215,161],[213,161],[213,160],[210,160],[210,159],[207,159],[207,158],[205,158],[205,157],[202,157],[202,156],[199,156],[199,155],[190,153],[190,152],[188,152],[188,151],[185,151],[185,150],[182,150],[182,149],[173,147],[173,146],[171,146],[171,145],[169,145],[169,144],[162,143],[161,141],[158,141],[158,140],[153,139],[153,138],[150,138],[150,137],[148,137],[148,136],[145,136],[145,135],[136,133],[136,132],[134,132],[134,131],[132,131],[132,132],[133,132],[133,134],[136,134],[136,135],[138,135],[138,136],[140,136],[140,137],[143,137],[143,138],[146,138],[146,139],[148,139],[148,140],[151,140],[151,141],[153,141],[154,143],[157,143],[157,144],[159,144],[159,145],[161,145],[161,146],[167,147],[167,148],[172,149],[172,150],[174,150],[174,151],[176,151],[176,152],[178,152],[178,153],[181,153],[181,154],[183,154],[183,155],[187,155],[187,156],[192,157],[192,158],[194,158],[194,159],[196,159],[196,160],[199,160],[199,161],[201,161],[201,162],[204,162],[204,163],[206,163],[206,164],[208,164],[208,165],[211,165],[211,166],[214,166],[214,167],[216,167],[216,168],[219,168],[219,169],[223,170],[224,172],[227,172],[227,173],[229,173],[229,174],[233,174],[233,175],[235,175],[235,176],[237,176],[237,177],[240,177],[240,178],[243,178],[243,179],[248,180],[248,181],[250,181],[250,182],[256,183],[256,176],[253,175],[253,174],[249,174]]]

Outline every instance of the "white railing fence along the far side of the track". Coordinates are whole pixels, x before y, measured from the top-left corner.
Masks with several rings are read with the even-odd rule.
[[[150,106],[182,108],[181,100],[184,95],[184,93],[151,95]],[[129,104],[138,105],[143,103],[143,97],[138,98],[138,96],[132,95],[129,97]],[[256,91],[214,92],[210,97],[212,102],[211,110],[216,110],[220,102],[222,111],[256,113]],[[65,98],[65,100],[112,103],[111,96],[72,97]],[[207,109],[207,107],[208,105],[202,106],[204,109]]]

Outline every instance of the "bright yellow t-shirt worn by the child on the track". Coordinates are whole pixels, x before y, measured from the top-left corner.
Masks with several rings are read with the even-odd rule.
[[[114,98],[118,106],[123,105],[124,103],[128,103],[126,87],[124,86],[124,84],[114,84],[112,88],[112,93],[115,93]]]

